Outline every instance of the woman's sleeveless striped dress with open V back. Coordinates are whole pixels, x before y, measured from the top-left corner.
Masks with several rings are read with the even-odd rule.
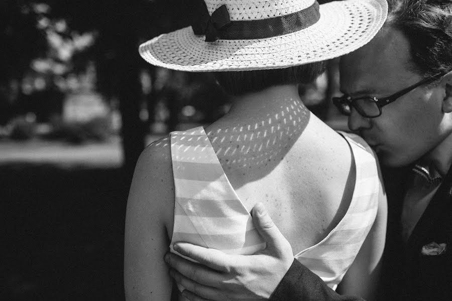
[[[327,237],[295,255],[333,289],[372,227],[379,191],[372,150],[359,136],[342,134],[352,147],[357,170],[350,207]],[[176,241],[230,254],[252,254],[265,248],[202,127],[172,132],[171,156],[176,196],[171,252],[177,253],[173,250]]]

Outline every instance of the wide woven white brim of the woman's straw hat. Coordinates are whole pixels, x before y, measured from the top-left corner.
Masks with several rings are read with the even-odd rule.
[[[367,44],[387,17],[386,0],[345,0],[320,6],[319,21],[298,32],[258,40],[205,42],[186,27],[140,45],[150,64],[180,71],[277,69],[348,54]]]

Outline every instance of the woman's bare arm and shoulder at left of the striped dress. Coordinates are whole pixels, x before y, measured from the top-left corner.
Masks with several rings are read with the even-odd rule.
[[[136,164],[124,235],[128,299],[170,299],[171,282],[163,261],[174,220],[170,146],[168,137],[151,143]]]

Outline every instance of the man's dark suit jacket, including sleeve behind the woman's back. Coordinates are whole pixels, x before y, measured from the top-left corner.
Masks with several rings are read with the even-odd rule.
[[[405,244],[400,237],[400,214],[408,179],[407,171],[384,171],[388,195],[388,232],[381,281],[380,300],[452,300],[452,168],[430,201]],[[402,181],[399,181],[402,179]],[[446,243],[441,255],[421,254],[422,246]],[[314,273],[294,260],[271,301],[330,300],[361,298],[337,294]]]

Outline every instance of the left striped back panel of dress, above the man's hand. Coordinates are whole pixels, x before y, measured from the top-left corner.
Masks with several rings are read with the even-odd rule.
[[[186,241],[229,254],[265,248],[202,127],[171,133],[176,202],[173,243]]]

